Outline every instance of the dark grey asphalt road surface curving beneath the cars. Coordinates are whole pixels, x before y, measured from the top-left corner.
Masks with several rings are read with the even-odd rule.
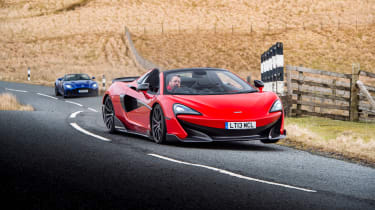
[[[101,97],[0,82],[7,209],[375,209],[375,169],[258,141],[158,145],[109,134]],[[293,132],[293,131],[289,131]]]

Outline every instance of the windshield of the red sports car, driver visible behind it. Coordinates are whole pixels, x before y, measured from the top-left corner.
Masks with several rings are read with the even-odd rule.
[[[224,95],[251,93],[248,83],[223,69],[182,69],[164,73],[164,92],[169,95]]]

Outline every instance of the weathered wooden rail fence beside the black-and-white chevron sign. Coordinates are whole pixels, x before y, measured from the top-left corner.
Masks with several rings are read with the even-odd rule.
[[[363,85],[365,96],[357,84],[375,78],[374,73],[353,68],[352,74],[343,74],[305,67],[286,67],[287,97],[284,109],[288,116],[320,116],[338,120],[375,120],[371,97],[375,87]],[[371,96],[372,94],[372,96]],[[370,98],[369,98],[370,95]]]

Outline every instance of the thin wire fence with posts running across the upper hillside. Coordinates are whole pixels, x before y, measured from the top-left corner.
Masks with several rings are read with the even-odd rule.
[[[130,31],[136,35],[161,35],[161,34],[253,34],[253,33],[280,33],[290,30],[351,30],[362,31],[375,29],[374,15],[361,18],[339,18],[327,20],[326,18],[315,18],[311,16],[303,20],[275,20],[264,22],[240,22],[240,23],[219,23],[201,22],[185,23],[173,20],[166,20],[154,24],[126,24]]]

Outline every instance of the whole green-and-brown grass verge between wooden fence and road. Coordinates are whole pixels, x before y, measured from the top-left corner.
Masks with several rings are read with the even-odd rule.
[[[375,167],[375,123],[286,118],[280,144]]]

